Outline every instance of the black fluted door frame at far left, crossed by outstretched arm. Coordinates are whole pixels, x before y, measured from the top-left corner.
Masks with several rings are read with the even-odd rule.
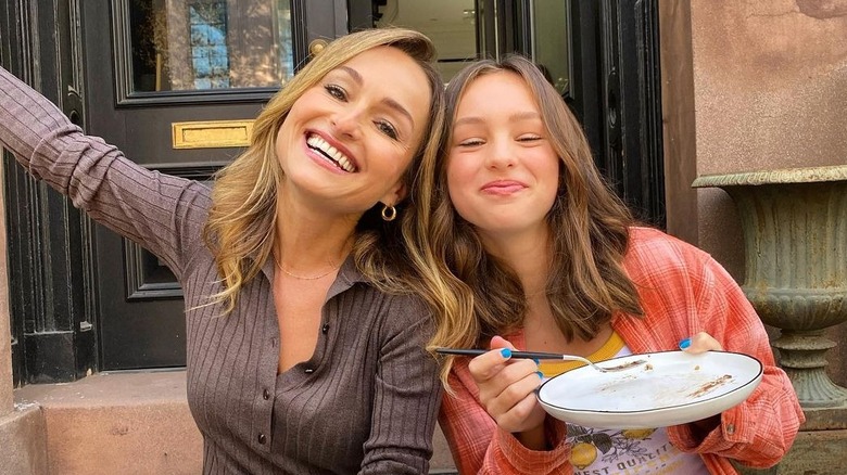
[[[79,0],[0,4],[0,62],[85,126]],[[97,371],[88,218],[3,153],[15,386]]]

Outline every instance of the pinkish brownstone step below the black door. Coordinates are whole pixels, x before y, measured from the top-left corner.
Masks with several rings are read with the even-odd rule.
[[[34,447],[25,446],[24,453],[35,451],[37,460],[47,462],[12,472],[0,464],[0,475],[202,472],[202,437],[188,410],[185,371],[99,373],[74,383],[24,386],[14,393],[17,406],[33,408],[29,412],[40,418],[40,425],[37,434],[12,438],[18,445],[23,442],[17,437],[30,440]],[[0,419],[0,447],[13,446],[3,438]],[[434,448],[431,473],[455,473],[440,429]],[[23,448],[15,450],[23,452]]]

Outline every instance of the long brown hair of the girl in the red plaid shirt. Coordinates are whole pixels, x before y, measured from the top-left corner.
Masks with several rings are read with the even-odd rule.
[[[447,194],[450,125],[458,102],[475,79],[496,72],[514,73],[526,81],[561,159],[556,200],[546,217],[552,261],[545,293],[565,337],[591,339],[616,311],[642,314],[635,286],[621,267],[633,220],[603,180],[565,101],[534,64],[513,55],[467,66],[446,89],[446,131],[434,165],[427,167],[429,172],[419,184],[419,194],[432,196],[428,207],[419,210],[428,227],[426,257],[438,269],[438,288],[428,295],[441,294],[442,301],[430,345],[478,346],[520,328],[527,312],[524,290],[515,271],[485,252],[473,226],[456,213]],[[450,364],[448,360],[444,380]]]

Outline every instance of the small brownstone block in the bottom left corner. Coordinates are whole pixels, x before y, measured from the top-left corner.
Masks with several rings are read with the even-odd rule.
[[[0,418],[0,447],[3,475],[42,475],[47,473],[45,418],[34,405],[17,405]]]

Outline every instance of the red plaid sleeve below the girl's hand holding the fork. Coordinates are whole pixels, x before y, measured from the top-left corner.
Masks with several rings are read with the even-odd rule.
[[[445,393],[439,424],[458,472],[465,474],[570,474],[570,447],[565,424],[547,416],[552,450],[530,450],[514,435],[497,427],[479,402],[479,391],[467,363],[456,361],[448,376],[454,394]]]

